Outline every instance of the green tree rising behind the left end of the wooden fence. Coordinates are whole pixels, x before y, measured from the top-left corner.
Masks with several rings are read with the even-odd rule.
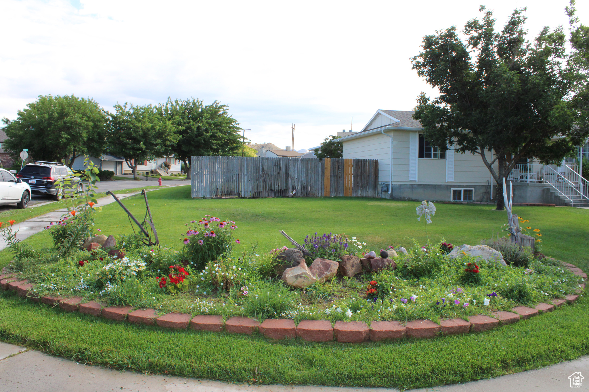
[[[176,128],[179,136],[172,146],[176,158],[184,162],[186,178],[190,178],[190,157],[211,155],[240,155],[239,123],[227,112],[228,106],[214,101],[203,105],[199,99],[168,98],[162,110]],[[239,152],[239,154],[238,154]]]

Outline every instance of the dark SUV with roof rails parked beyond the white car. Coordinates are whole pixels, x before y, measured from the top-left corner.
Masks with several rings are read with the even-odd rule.
[[[80,177],[75,177],[70,167],[58,162],[35,160],[22,167],[16,177],[28,183],[35,195],[52,195],[54,200],[64,197],[65,193],[80,192],[82,183]],[[71,185],[64,190],[57,189],[60,178],[71,179]]]

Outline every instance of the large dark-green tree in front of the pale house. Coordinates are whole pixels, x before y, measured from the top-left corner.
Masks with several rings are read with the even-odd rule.
[[[480,11],[481,19],[466,23],[465,41],[455,26],[423,38],[413,69],[439,96],[422,93],[413,118],[432,145],[481,156],[502,210],[503,179],[520,158],[559,163],[589,134],[589,31],[574,19],[574,1],[567,8],[570,48],[561,27],[544,28],[528,42],[525,8],[501,31],[490,11]]]

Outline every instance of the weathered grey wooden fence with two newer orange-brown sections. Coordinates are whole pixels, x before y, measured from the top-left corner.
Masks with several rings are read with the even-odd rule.
[[[376,197],[378,160],[191,157],[192,197]]]

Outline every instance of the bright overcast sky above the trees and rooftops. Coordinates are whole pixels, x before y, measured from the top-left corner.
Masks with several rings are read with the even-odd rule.
[[[422,37],[479,16],[481,1],[0,2],[0,116],[38,95],[94,98],[105,109],[171,98],[219,100],[254,143],[319,145],[360,130],[377,109],[412,110],[433,92],[411,69]],[[485,4],[485,2],[482,2]],[[486,2],[502,26],[568,29],[565,0]],[[577,16],[589,24],[589,1]]]

